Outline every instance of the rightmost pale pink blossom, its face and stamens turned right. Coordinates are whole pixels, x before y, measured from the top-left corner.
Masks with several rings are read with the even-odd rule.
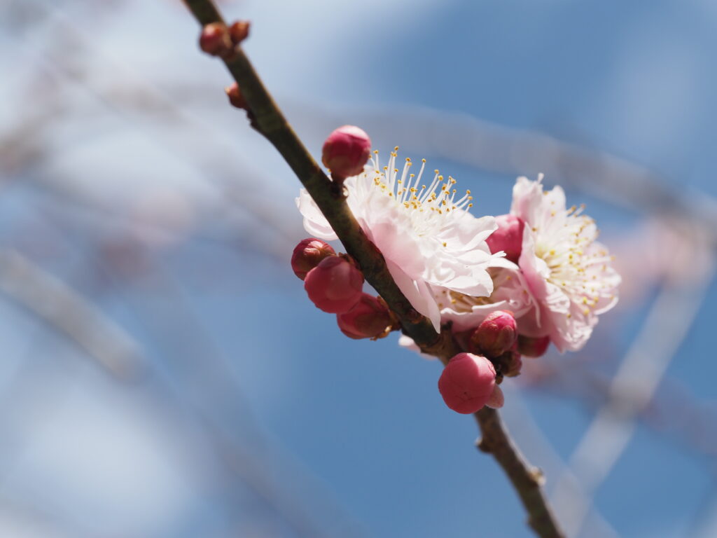
[[[594,220],[583,207],[566,209],[561,187],[543,191],[519,177],[511,214],[525,222],[518,265],[533,308],[518,320],[526,336],[550,336],[559,351],[584,346],[598,315],[617,303],[620,276],[607,248],[596,241]]]

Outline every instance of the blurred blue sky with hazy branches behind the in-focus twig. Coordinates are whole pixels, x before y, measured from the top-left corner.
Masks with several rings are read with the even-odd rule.
[[[353,123],[508,211],[587,204],[624,278],[503,412],[571,537],[717,536],[717,4],[236,0],[308,147]],[[528,537],[397,336],[290,252],[299,184],[175,0],[0,1],[0,536]]]

